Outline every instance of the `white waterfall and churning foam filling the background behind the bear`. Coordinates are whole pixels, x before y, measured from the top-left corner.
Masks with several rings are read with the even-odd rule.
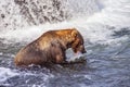
[[[129,15],[129,0],[1,0],[0,40],[29,42],[49,29],[76,27],[87,41],[116,44],[129,38],[113,37],[130,27]]]

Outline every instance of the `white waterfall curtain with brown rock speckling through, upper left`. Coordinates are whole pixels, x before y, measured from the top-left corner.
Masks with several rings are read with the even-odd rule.
[[[96,11],[94,0],[1,0],[0,30],[69,21]]]

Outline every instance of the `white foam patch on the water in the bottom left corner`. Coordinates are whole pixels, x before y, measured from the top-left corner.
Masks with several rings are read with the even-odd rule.
[[[54,75],[52,75],[51,73],[44,74],[43,70],[41,67],[36,67],[36,70],[39,71],[35,71],[35,67],[32,67],[32,71],[26,71],[26,69],[24,71],[18,71],[18,70],[11,70],[11,69],[6,69],[6,67],[0,67],[0,86],[11,86],[12,80],[18,80],[20,78],[23,78],[25,84],[23,86],[26,86],[26,84],[31,83],[31,86],[46,86],[46,83],[48,83],[49,78],[53,78]],[[31,67],[30,67],[31,70]],[[46,70],[47,71],[47,70]],[[16,76],[16,79],[13,78]],[[34,84],[31,82],[31,78],[41,78],[42,84],[36,85],[36,83],[39,83],[36,80],[36,83]],[[9,80],[9,82],[8,82]],[[20,80],[21,82],[21,80]]]

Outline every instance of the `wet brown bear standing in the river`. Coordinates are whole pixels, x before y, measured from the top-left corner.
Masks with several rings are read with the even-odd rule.
[[[49,30],[20,50],[15,65],[62,64],[66,62],[65,51],[72,48],[75,53],[86,53],[83,38],[76,28]]]

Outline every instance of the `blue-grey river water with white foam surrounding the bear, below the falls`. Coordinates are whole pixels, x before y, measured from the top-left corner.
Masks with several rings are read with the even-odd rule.
[[[9,29],[13,25],[2,26],[0,87],[130,87],[130,1],[67,2],[73,17],[66,21],[15,29]],[[9,18],[4,22],[9,22]],[[83,36],[87,63],[50,69],[35,65],[22,69],[14,65],[13,59],[22,47],[47,30],[68,27],[76,27]],[[67,55],[70,54],[73,52],[68,50]]]

